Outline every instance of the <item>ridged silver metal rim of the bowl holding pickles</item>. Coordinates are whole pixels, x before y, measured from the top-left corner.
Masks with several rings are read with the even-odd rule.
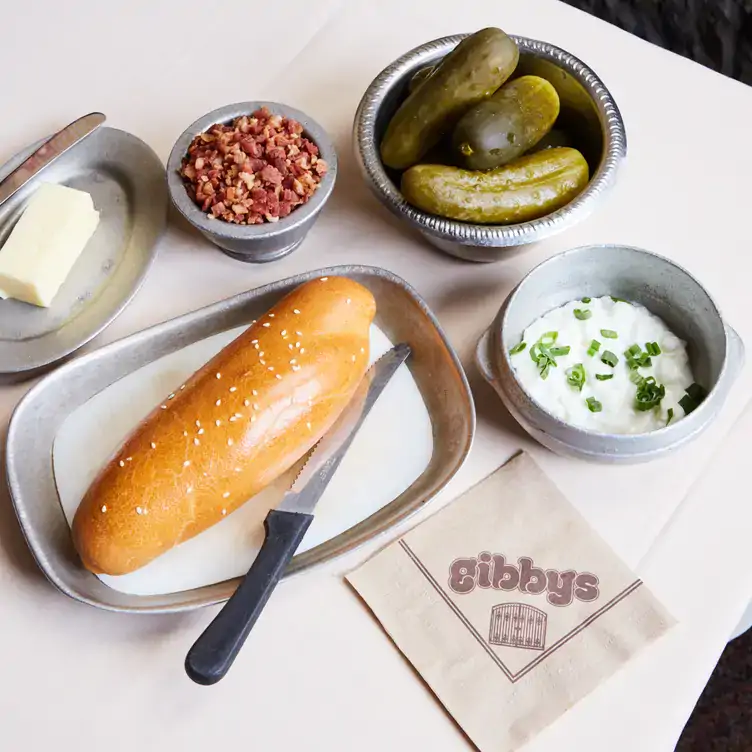
[[[395,188],[381,162],[375,127],[386,95],[406,71],[429,64],[447,54],[467,36],[469,35],[455,34],[420,45],[397,58],[373,80],[358,105],[353,128],[355,152],[361,171],[377,198],[390,211],[421,231],[442,240],[491,247],[523,245],[542,240],[579,222],[593,211],[598,198],[614,182],[617,167],[627,153],[624,122],[610,92],[591,68],[560,47],[510,35],[520,52],[550,60],[570,73],[588,92],[601,118],[606,141],[605,155],[587,188],[566,206],[540,219],[514,225],[478,225],[444,219],[408,204]]]

